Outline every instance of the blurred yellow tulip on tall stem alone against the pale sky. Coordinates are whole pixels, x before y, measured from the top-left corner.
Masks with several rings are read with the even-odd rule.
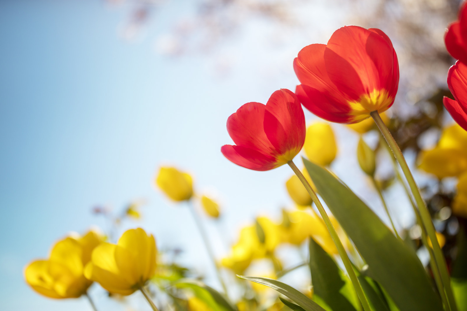
[[[161,167],[156,184],[174,201],[190,200],[193,195],[191,176],[178,171],[175,167]]]

